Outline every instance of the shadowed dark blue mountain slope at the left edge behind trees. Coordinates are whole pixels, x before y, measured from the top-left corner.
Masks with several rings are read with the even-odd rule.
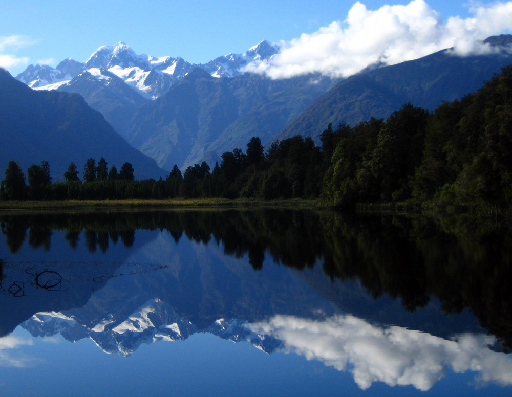
[[[0,169],[6,169],[10,160],[19,161],[23,170],[46,160],[52,177],[60,180],[71,162],[80,168],[90,157],[104,157],[109,166],[130,162],[137,178],[166,174],[126,143],[79,95],[36,92],[4,69],[0,69],[0,86]]]

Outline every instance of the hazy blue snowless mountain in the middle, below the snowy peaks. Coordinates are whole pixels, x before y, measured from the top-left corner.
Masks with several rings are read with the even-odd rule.
[[[214,165],[225,151],[245,150],[251,137],[268,141],[331,84],[322,76],[214,78],[197,68],[141,106],[127,139],[164,169]]]

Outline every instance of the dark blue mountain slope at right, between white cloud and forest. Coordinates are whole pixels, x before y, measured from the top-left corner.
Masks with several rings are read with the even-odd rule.
[[[319,135],[329,123],[354,125],[370,117],[387,118],[404,103],[433,110],[442,101],[461,99],[512,63],[512,35],[484,40],[484,55],[458,56],[452,49],[347,78],[304,109],[273,140]]]

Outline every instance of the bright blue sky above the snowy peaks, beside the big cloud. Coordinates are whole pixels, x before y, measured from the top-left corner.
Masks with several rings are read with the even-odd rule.
[[[465,23],[466,28],[471,25],[467,18],[475,16],[477,7],[496,5],[496,2],[468,3],[465,0],[414,0],[413,3],[416,8],[423,8],[421,15],[436,11],[444,23],[450,17],[458,16],[461,25]],[[229,52],[243,53],[262,39],[272,42],[284,40],[281,43],[284,47],[293,47],[300,41],[301,35],[306,34],[303,38],[311,38],[311,35],[318,35],[329,26],[333,28],[334,21],[338,22],[339,34],[340,29],[348,27],[349,11],[354,10],[355,4],[355,1],[339,0],[2,0],[0,65],[16,75],[29,63],[55,66],[67,57],[87,60],[98,47],[113,45],[118,41],[124,41],[138,54],[181,56],[189,62],[207,62]],[[411,6],[412,3],[361,0],[357,4],[359,8],[366,6],[366,17],[371,12],[384,10],[386,5]],[[499,4],[512,8],[512,2],[502,1]],[[508,20],[509,26],[512,26],[512,19]],[[386,20],[382,19],[381,22],[385,24]],[[480,21],[478,24],[483,25]],[[493,34],[511,32],[510,27],[503,27],[503,21],[501,24],[487,21],[486,24],[491,28],[480,32],[481,35],[493,29],[496,31]],[[381,31],[380,26],[372,29],[373,35]],[[332,31],[324,33],[332,34]],[[358,37],[361,39],[364,35]],[[438,46],[451,42],[437,40]],[[419,44],[424,47],[423,41]],[[310,43],[309,49],[307,46],[301,48],[311,51],[312,45]],[[375,44],[379,47],[377,52],[383,51],[381,45]],[[303,56],[307,58],[306,53]],[[323,54],[315,56],[321,58]],[[347,57],[347,53],[343,56]],[[409,56],[416,56],[416,53]],[[398,60],[399,57],[395,58]],[[344,73],[351,73],[348,71],[352,69],[346,68],[347,72]]]

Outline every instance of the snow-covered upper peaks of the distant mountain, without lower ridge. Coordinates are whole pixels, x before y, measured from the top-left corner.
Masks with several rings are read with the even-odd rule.
[[[234,77],[243,74],[247,63],[267,59],[277,52],[278,49],[264,40],[245,54],[228,54],[208,63],[191,64],[180,57],[137,55],[125,43],[118,42],[114,46],[100,47],[85,62],[68,58],[55,69],[48,65],[29,65],[16,78],[36,90],[54,90],[65,84],[73,84],[73,79],[84,72],[89,72],[108,85],[110,80],[104,76],[111,73],[146,99],[155,99],[191,69],[200,68],[215,77]]]

